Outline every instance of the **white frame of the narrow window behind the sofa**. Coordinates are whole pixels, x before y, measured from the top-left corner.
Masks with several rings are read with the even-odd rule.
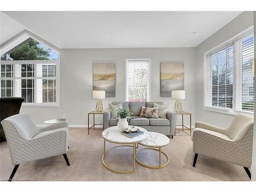
[[[151,58],[126,58],[125,59],[125,102],[129,102],[128,101],[128,92],[127,92],[127,66],[129,61],[148,61],[149,62],[149,74],[148,76],[149,78],[149,88],[148,88],[148,101],[151,101]]]

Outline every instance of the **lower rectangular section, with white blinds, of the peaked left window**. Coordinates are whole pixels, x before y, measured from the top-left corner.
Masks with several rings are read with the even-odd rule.
[[[1,97],[23,97],[23,105],[58,105],[58,61],[1,61]]]

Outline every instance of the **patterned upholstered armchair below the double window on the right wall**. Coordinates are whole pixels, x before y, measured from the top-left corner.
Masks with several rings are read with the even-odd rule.
[[[203,155],[243,166],[249,178],[252,159],[253,118],[237,115],[231,125],[223,129],[204,122],[196,122],[193,132],[193,166]]]

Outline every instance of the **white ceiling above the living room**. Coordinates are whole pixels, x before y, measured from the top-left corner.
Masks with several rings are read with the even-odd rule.
[[[1,44],[15,33],[28,29],[60,49],[75,49],[196,47],[237,17],[241,11],[4,11],[4,13],[19,24],[16,23],[15,26],[13,24],[15,21],[3,14]],[[9,22],[11,20],[11,24],[8,20]],[[196,35],[191,34],[193,32],[196,32]]]

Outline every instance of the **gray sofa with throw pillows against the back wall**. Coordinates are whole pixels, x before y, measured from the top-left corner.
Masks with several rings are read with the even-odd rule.
[[[112,104],[116,105],[119,102],[112,102]],[[141,106],[147,108],[153,108],[154,103],[158,103],[163,105],[163,102],[122,102],[123,108],[129,109],[135,117],[140,116]],[[130,125],[136,125],[143,127],[147,131],[158,132],[167,136],[174,136],[175,126],[176,126],[176,117],[177,114],[172,111],[167,111],[167,119],[164,118],[132,118],[129,122]],[[111,118],[111,113],[106,111],[103,113],[103,125],[104,129],[116,126],[118,119]]]

